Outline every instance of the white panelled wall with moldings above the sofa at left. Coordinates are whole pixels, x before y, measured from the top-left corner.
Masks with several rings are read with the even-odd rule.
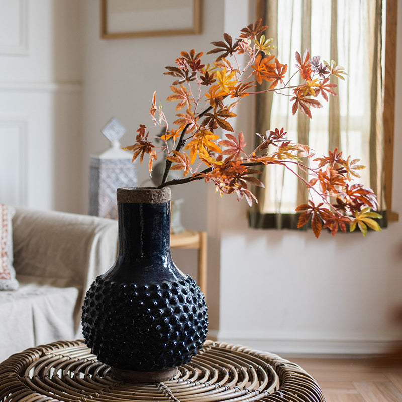
[[[80,210],[78,5],[0,1],[0,202]]]

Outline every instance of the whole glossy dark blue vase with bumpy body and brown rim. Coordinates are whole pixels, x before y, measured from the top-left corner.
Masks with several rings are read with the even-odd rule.
[[[188,363],[206,339],[204,295],[170,254],[170,189],[117,190],[119,252],[82,307],[85,342],[120,370]]]

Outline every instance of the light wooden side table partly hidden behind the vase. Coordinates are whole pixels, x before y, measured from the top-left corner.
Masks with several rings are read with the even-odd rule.
[[[207,232],[186,230],[170,235],[170,248],[189,248],[198,250],[198,278],[196,282],[207,298]]]

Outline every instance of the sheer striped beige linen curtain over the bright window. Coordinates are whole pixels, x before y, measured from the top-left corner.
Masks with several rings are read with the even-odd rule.
[[[261,0],[259,12],[268,25],[265,36],[274,38],[277,49],[272,54],[282,64],[288,64],[289,77],[296,72],[295,52],[303,56],[306,49],[311,57],[320,55],[321,61],[334,60],[348,76],[345,81],[331,78],[338,85],[338,96],[330,96],[328,103],[320,98],[323,108],[312,109],[312,119],[300,111],[292,116],[290,97],[269,93],[257,96],[255,121],[256,131],[261,134],[284,127],[290,139],[308,144],[316,157],[338,148],[344,158],[360,158],[366,169],[356,180],[374,190],[380,210],[385,210],[383,3],[384,0]],[[261,89],[269,85],[263,82]],[[294,210],[306,203],[306,186],[280,166],[268,165],[261,176],[265,188],[255,189],[258,205],[250,212],[250,226],[297,228]]]

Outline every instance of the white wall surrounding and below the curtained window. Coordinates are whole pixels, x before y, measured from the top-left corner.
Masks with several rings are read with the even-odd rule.
[[[398,28],[396,71],[402,7]],[[400,74],[396,88],[393,210],[401,213]],[[251,126],[248,106],[237,131]],[[244,203],[220,204],[220,340],[278,353],[376,353],[402,338],[393,321],[402,307],[402,222],[365,239],[323,233],[317,240],[311,231],[249,229]]]

